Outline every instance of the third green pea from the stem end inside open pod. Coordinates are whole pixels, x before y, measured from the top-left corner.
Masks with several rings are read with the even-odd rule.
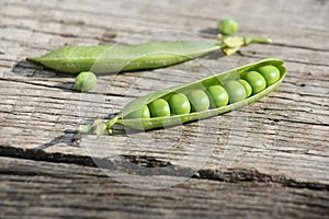
[[[171,95],[168,103],[173,115],[189,114],[191,112],[190,101],[182,93]]]

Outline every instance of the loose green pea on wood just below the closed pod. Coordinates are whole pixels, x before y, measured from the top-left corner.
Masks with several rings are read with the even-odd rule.
[[[98,78],[93,72],[83,71],[76,78],[75,89],[77,91],[90,91],[98,83]]]

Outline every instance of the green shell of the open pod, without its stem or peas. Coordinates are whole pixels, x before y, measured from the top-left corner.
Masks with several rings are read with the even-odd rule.
[[[280,79],[274,84],[269,85],[266,89],[261,91],[260,93],[257,93],[254,95],[251,95],[242,101],[218,107],[218,108],[212,108],[208,111],[203,112],[196,112],[191,114],[183,114],[183,115],[174,115],[174,116],[168,116],[168,117],[157,117],[157,118],[137,118],[137,119],[121,119],[123,115],[127,115],[133,111],[136,111],[138,107],[143,107],[143,105],[150,103],[151,101],[171,95],[172,93],[183,93],[186,94],[190,91],[193,91],[195,89],[205,89],[209,85],[215,84],[223,84],[228,80],[238,80],[241,78],[242,73],[246,71],[256,70],[259,67],[266,66],[266,65],[273,65],[280,70]],[[183,124],[192,120],[203,119],[211,116],[216,116],[229,111],[234,111],[236,108],[242,107],[245,105],[248,105],[250,103],[253,103],[261,97],[265,96],[270,92],[274,91],[283,81],[284,77],[286,74],[286,69],[283,67],[283,61],[281,59],[274,59],[274,58],[268,58],[262,59],[260,61],[242,66],[223,73],[218,73],[192,83],[182,84],[178,87],[173,87],[167,90],[161,90],[145,96],[141,96],[139,99],[136,99],[135,101],[128,103],[123,111],[118,114],[118,119],[116,123],[122,124],[124,126],[135,128],[135,129],[143,129],[148,130],[152,128],[159,128],[159,127],[168,127],[173,126],[177,124]]]

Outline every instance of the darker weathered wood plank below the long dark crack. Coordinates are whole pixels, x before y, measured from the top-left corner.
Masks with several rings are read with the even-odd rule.
[[[129,177],[129,176],[126,176]],[[137,177],[137,176],[135,176]],[[174,177],[139,177],[144,183]],[[328,191],[190,178],[137,189],[99,169],[0,158],[2,218],[326,218]]]

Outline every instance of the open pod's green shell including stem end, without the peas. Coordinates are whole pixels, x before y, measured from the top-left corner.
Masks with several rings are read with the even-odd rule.
[[[184,94],[189,95],[189,93],[195,91],[195,90],[201,90],[205,91],[214,85],[223,85],[225,87],[228,82],[231,81],[239,81],[241,78],[248,78],[247,74],[249,72],[256,72],[260,71],[261,69],[264,69],[262,67],[272,67],[276,69],[277,71],[277,78],[275,81],[271,81],[271,84],[268,84],[263,88],[261,91],[257,91],[258,93],[254,94],[249,94],[250,96],[245,96],[242,100],[234,102],[234,103],[228,103],[227,105],[220,106],[220,107],[213,107],[206,111],[201,111],[201,112],[191,112],[188,114],[180,114],[180,115],[170,115],[170,116],[163,116],[163,117],[149,117],[149,118],[131,118],[129,115],[132,115],[134,112],[138,112],[144,107],[145,105],[149,105],[156,100],[163,99],[168,100],[170,96],[173,94]],[[208,78],[204,78],[202,80],[182,84],[182,85],[177,85],[170,89],[157,91],[154,93],[150,93],[148,95],[141,96],[139,99],[136,99],[128,103],[124,108],[122,110],[121,113],[117,114],[116,117],[112,118],[111,120],[106,122],[106,128],[107,131],[111,132],[112,127],[115,124],[121,124],[126,127],[131,127],[134,129],[141,129],[141,130],[149,130],[154,128],[159,128],[159,127],[167,127],[167,126],[174,126],[174,125],[180,125],[184,124],[192,120],[198,120],[203,118],[207,118],[211,116],[216,116],[236,108],[239,108],[241,106],[245,106],[247,104],[250,104],[252,102],[256,102],[260,100],[261,97],[265,96],[273,90],[275,90],[281,82],[283,81],[285,77],[286,70],[285,67],[283,66],[283,61],[280,59],[275,58],[266,58],[262,59],[260,61],[242,66],[223,73],[214,74]],[[263,79],[264,80],[264,79]],[[254,84],[253,81],[250,81],[250,84]],[[250,87],[251,88],[251,87]],[[245,92],[245,91],[243,91]],[[247,92],[246,92],[247,93]],[[247,95],[247,94],[246,94]],[[103,127],[105,127],[103,124],[104,123],[98,123],[102,124]],[[97,126],[91,125],[89,128],[82,128],[82,132],[91,132],[91,130],[95,130]]]

